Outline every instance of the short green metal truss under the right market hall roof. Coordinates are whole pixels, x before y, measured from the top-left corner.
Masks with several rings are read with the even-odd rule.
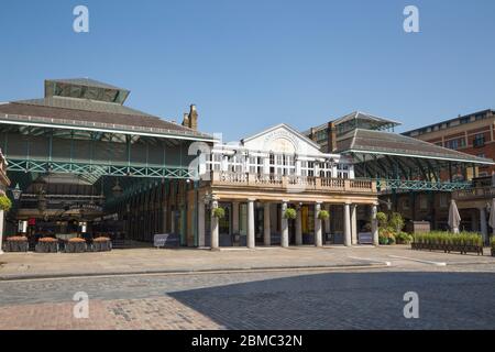
[[[408,180],[408,179],[376,179],[376,188],[381,191],[386,190],[438,190],[454,191],[472,188],[471,183],[442,183],[428,180]]]

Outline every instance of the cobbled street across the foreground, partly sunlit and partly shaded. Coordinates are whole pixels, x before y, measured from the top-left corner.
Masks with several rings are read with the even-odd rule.
[[[392,266],[0,282],[0,329],[495,329],[491,258],[342,253]],[[73,317],[77,292],[88,319]],[[419,319],[404,318],[406,292]]]

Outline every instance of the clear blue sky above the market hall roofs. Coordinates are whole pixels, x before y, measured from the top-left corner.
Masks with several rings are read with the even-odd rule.
[[[89,33],[73,9],[89,8]],[[403,10],[419,9],[420,33]],[[354,110],[399,131],[495,108],[495,1],[1,0],[0,101],[90,77],[128,105],[234,140]]]

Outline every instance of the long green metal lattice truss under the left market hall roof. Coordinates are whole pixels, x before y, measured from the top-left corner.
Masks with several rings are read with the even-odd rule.
[[[87,164],[76,162],[12,160],[8,161],[8,172],[23,173],[59,173],[82,175],[96,182],[101,176],[131,176],[151,178],[195,178],[196,173],[188,167],[177,166],[132,166],[110,164]]]

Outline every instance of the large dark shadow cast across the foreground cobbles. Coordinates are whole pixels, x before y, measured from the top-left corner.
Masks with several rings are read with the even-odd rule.
[[[326,273],[168,295],[228,329],[494,329],[494,287],[491,273]]]

